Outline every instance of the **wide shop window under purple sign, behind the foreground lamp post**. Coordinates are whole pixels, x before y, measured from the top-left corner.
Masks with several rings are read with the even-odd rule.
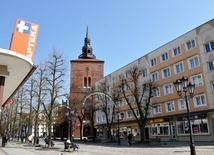
[[[193,134],[205,134],[209,133],[207,119],[196,119],[191,121]],[[177,123],[178,134],[189,134],[190,128],[188,121],[178,121]]]

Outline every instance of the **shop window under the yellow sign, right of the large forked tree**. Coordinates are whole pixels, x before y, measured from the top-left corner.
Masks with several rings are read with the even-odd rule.
[[[157,135],[169,135],[170,129],[169,129],[169,123],[155,123],[152,124],[152,134],[154,136]]]

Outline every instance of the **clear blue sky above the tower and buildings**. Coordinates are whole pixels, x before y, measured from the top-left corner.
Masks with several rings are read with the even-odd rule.
[[[0,6],[0,48],[9,48],[21,18],[40,25],[35,65],[56,47],[70,67],[88,25],[105,76],[214,18],[213,0],[1,0]]]

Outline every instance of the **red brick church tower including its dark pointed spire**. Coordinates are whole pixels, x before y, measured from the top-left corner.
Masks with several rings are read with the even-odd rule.
[[[86,29],[86,37],[84,39],[84,46],[82,47],[82,54],[78,59],[71,60],[70,73],[70,101],[83,99],[86,93],[95,88],[95,82],[104,76],[104,61],[96,59],[92,52],[90,45],[90,38],[88,36],[88,26]],[[79,103],[82,104],[82,103]],[[79,122],[78,122],[79,123]],[[75,124],[78,125],[76,122]],[[74,128],[74,127],[73,127]],[[74,129],[73,129],[74,130]],[[91,128],[89,124],[84,123],[82,127],[82,136],[91,136]],[[76,129],[73,132],[74,137],[80,137],[80,130]]]

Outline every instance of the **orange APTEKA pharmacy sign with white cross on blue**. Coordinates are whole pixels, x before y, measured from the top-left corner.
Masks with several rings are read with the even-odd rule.
[[[14,27],[10,50],[34,59],[39,25],[22,19],[17,19]]]

